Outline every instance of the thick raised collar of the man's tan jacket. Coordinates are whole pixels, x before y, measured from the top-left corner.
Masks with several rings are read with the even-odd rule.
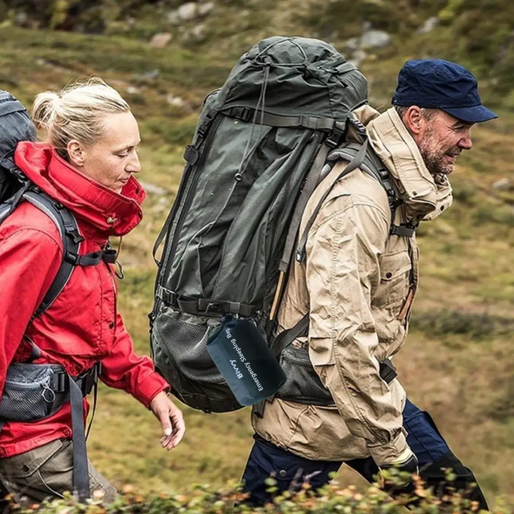
[[[447,177],[442,175],[434,180],[394,107],[372,119],[366,129],[375,152],[391,172],[405,201],[409,219],[434,219],[450,207],[453,197]]]

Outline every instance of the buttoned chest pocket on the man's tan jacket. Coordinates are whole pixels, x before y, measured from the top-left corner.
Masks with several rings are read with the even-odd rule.
[[[380,283],[372,304],[391,310],[400,318],[410,294],[412,262],[407,249],[382,255],[380,262]],[[404,315],[405,317],[405,315]]]

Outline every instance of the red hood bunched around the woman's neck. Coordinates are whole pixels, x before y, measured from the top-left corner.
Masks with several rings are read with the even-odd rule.
[[[107,237],[127,234],[143,217],[146,193],[134,176],[118,194],[71,166],[50,144],[31,141],[18,143],[14,162],[36,186]]]

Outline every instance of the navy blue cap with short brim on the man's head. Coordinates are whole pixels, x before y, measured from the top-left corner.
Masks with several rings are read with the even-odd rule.
[[[471,71],[443,59],[407,61],[398,74],[392,103],[442,109],[467,123],[498,118],[482,105]]]

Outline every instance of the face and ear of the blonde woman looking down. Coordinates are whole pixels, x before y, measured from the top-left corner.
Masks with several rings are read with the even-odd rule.
[[[77,140],[68,143],[69,161],[88,177],[119,193],[133,173],[140,169],[137,145],[141,138],[132,113],[105,116],[103,136],[84,146]]]

